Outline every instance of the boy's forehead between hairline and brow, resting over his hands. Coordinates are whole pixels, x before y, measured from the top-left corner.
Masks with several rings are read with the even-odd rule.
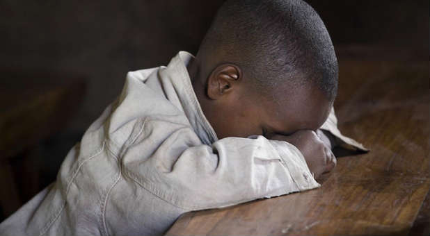
[[[266,103],[266,125],[273,132],[291,134],[297,130],[316,130],[333,106],[316,86],[301,85],[286,88]]]

